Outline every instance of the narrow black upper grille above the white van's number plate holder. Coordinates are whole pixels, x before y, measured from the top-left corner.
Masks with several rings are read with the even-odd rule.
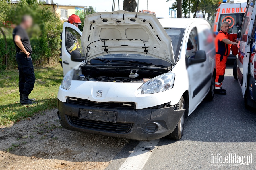
[[[135,109],[134,103],[129,102],[94,102],[86,99],[77,99],[69,97],[67,103],[91,107],[104,107],[112,109]]]

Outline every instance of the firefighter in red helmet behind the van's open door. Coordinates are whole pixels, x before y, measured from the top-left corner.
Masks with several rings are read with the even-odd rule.
[[[79,16],[77,16],[75,14],[72,14],[71,16],[69,16],[67,22],[75,25],[76,27],[78,27],[79,25],[82,24]],[[66,44],[67,44],[67,49],[69,50],[69,52],[72,52],[74,50],[82,51],[82,50],[80,50],[80,46],[77,43],[77,37],[76,37],[75,33],[71,33],[70,31],[67,31],[66,34],[67,34]],[[62,43],[62,33],[60,35],[60,43]],[[59,50],[60,50],[59,62],[62,67],[61,46],[60,46]]]

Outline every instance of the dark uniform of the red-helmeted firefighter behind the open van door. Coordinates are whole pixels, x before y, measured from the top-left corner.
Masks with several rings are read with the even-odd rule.
[[[67,50],[69,52],[72,52],[74,50],[80,50],[80,46],[77,45],[77,36],[74,34],[72,34],[71,32],[67,31],[66,32],[66,35],[67,35],[67,39],[66,39],[66,45],[67,45]],[[59,41],[60,41],[60,56],[59,56],[59,62],[61,64],[61,67],[62,67],[62,56],[61,56],[61,48],[62,48],[62,33],[60,35],[60,38],[59,38]]]

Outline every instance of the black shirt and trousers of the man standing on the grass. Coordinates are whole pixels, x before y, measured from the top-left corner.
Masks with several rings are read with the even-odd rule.
[[[33,90],[35,80],[36,80],[34,67],[31,59],[32,48],[30,45],[28,34],[21,26],[17,26],[13,30],[13,41],[14,41],[15,35],[20,36],[21,42],[24,48],[30,54],[30,57],[27,58],[27,55],[23,52],[20,52],[21,49],[14,42],[14,45],[16,48],[16,61],[18,63],[18,69],[19,69],[19,93],[20,93],[20,96],[22,96],[22,94],[26,94],[28,96],[28,94],[30,94],[31,91]]]

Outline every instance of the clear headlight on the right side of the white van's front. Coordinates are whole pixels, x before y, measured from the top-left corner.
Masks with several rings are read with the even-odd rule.
[[[144,83],[137,92],[139,94],[151,94],[163,92],[173,87],[175,74],[165,73]]]

